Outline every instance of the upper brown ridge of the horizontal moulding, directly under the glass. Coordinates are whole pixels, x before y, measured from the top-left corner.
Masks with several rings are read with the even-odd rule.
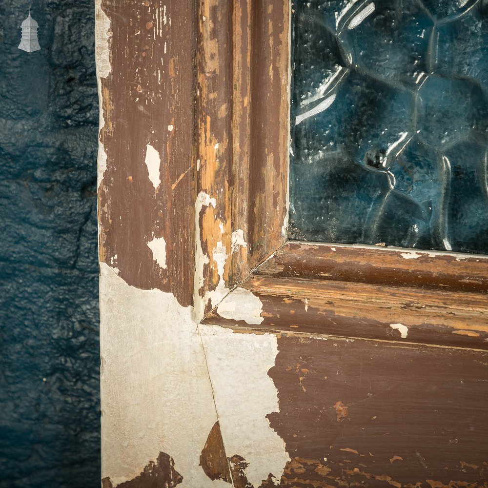
[[[256,275],[488,293],[488,256],[287,242]]]

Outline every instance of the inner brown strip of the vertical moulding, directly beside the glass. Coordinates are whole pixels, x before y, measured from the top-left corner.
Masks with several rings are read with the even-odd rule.
[[[249,268],[286,239],[289,2],[252,2]]]

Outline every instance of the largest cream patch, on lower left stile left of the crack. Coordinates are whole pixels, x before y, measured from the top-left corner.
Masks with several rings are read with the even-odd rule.
[[[200,466],[217,413],[191,307],[100,266],[102,477],[117,486],[163,451],[183,487],[228,487]]]

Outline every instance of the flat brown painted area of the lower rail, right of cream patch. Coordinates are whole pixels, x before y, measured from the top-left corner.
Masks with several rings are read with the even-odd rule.
[[[487,486],[486,352],[285,334],[278,348],[267,418],[296,478],[279,486]],[[327,472],[305,476],[298,458]]]

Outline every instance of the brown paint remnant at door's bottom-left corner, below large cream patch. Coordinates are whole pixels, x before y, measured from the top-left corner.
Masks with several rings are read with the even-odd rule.
[[[150,461],[139,476],[117,485],[117,488],[175,488],[183,483],[173,458],[160,452],[156,462]],[[102,488],[113,488],[110,478],[102,479]]]

